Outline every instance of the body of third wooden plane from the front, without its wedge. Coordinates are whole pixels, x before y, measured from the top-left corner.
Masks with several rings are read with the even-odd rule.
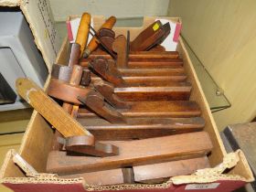
[[[202,131],[205,121],[201,117],[191,118],[126,118],[127,123],[109,123],[101,118],[78,118],[100,141],[122,141],[145,139],[178,133]]]

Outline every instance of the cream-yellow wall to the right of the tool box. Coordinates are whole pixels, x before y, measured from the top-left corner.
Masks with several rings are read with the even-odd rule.
[[[214,113],[219,130],[256,115],[256,1],[172,0],[182,34],[231,102]]]

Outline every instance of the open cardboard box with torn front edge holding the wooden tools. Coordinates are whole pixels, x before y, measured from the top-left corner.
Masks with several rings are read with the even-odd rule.
[[[166,18],[166,17],[165,17]],[[167,18],[173,21],[180,21],[179,18]],[[97,29],[103,23],[103,17],[93,17],[94,27]],[[144,17],[143,27],[133,28],[114,28],[116,34],[126,34],[126,30],[131,32],[131,39],[135,37],[148,24],[152,23],[155,17]],[[184,67],[187,70],[187,80],[192,83],[193,91],[191,100],[197,101],[201,108],[202,116],[206,121],[205,131],[211,136],[213,150],[208,156],[210,165],[213,168],[198,170],[191,176],[174,176],[167,182],[157,185],[119,185],[109,187],[93,187],[86,184],[83,178],[63,179],[52,174],[43,174],[46,171],[48,152],[51,148],[53,131],[48,123],[38,114],[33,112],[27,131],[24,135],[20,150],[18,152],[30,165],[32,165],[38,173],[30,171],[28,166],[24,165],[22,171],[13,161],[16,156],[14,150],[10,150],[5,156],[5,162],[0,172],[1,182],[16,191],[231,191],[242,187],[246,182],[253,180],[250,166],[239,150],[236,153],[227,155],[222,141],[219,136],[218,129],[214,123],[213,117],[208,107],[208,102],[200,87],[197,75],[193,69],[191,60],[187,55],[183,41],[179,38],[177,50],[182,59],[184,59]],[[69,56],[68,38],[60,48],[58,58],[59,64],[67,64]],[[49,77],[48,77],[49,80]],[[45,88],[48,86],[48,81]]]

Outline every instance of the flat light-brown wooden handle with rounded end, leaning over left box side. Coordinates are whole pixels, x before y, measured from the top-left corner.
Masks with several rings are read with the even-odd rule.
[[[27,78],[16,80],[16,91],[37,112],[39,112],[59,133],[65,137],[76,135],[93,135],[65,112],[57,102],[53,101],[35,82]]]

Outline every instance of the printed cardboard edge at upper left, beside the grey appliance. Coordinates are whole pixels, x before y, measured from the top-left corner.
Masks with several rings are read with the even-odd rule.
[[[48,0],[0,0],[0,6],[18,6],[21,9],[50,70],[59,52],[60,42]]]

